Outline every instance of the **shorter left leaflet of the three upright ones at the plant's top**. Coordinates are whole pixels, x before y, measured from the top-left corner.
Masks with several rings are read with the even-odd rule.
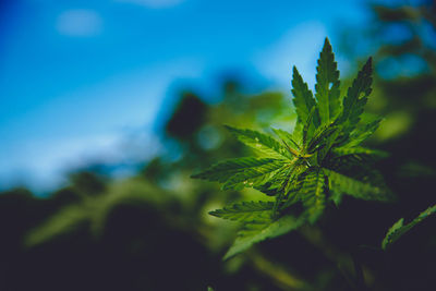
[[[304,83],[302,76],[295,66],[293,66],[292,73],[292,94],[293,105],[295,106],[296,116],[299,122],[305,122],[313,107],[316,107],[315,99],[312,92],[307,87],[307,83]],[[313,119],[314,128],[319,126],[319,117],[316,116]]]

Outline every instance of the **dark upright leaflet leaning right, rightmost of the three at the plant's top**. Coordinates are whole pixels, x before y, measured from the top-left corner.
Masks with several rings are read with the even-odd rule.
[[[346,124],[347,132],[355,128],[366,105],[367,96],[372,90],[372,58],[370,58],[358,73],[358,77],[353,81],[347,96],[343,98],[343,111],[338,121]]]

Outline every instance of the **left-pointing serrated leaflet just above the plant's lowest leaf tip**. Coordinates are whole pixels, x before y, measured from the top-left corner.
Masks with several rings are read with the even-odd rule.
[[[234,221],[265,221],[270,218],[272,207],[274,202],[242,202],[210,211],[209,215]]]

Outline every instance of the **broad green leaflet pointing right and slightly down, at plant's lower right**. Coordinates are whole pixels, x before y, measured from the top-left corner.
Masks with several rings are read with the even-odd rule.
[[[363,182],[329,169],[324,169],[324,171],[332,191],[339,191],[364,201],[392,201],[391,193],[386,187]]]

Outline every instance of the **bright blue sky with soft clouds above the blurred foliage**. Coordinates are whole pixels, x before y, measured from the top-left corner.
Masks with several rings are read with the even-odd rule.
[[[130,158],[130,133],[157,148],[153,123],[177,84],[213,90],[235,70],[289,90],[292,64],[313,84],[324,37],[335,48],[338,28],[367,10],[359,0],[15,0],[0,19],[0,187],[40,187],[94,157]]]

